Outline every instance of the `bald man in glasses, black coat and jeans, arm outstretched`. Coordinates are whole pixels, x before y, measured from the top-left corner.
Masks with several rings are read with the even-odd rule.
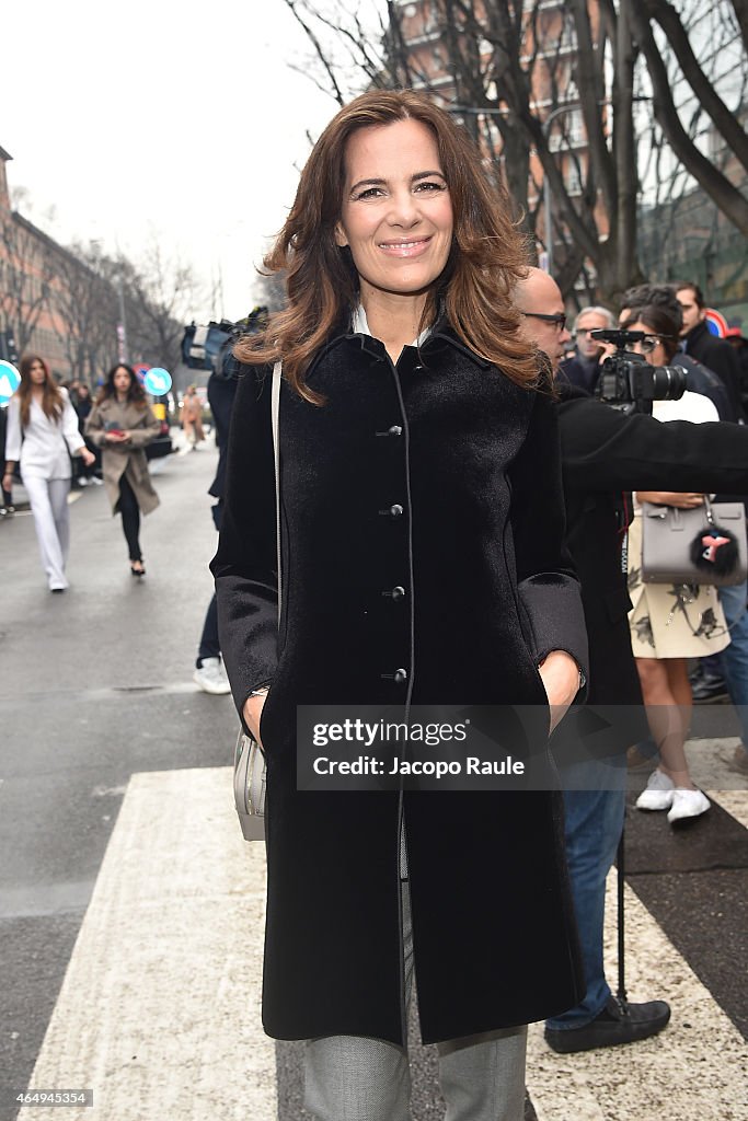
[[[548,359],[554,376],[563,353],[563,298],[555,281],[529,269],[515,291],[523,332]],[[562,1054],[611,1047],[662,1031],[669,1007],[613,997],[603,967],[606,878],[624,828],[626,751],[647,734],[628,626],[630,600],[621,564],[630,521],[630,490],[748,493],[748,429],[626,415],[561,380],[557,417],[566,504],[566,547],[576,566],[590,642],[588,704],[630,713],[610,730],[607,759],[584,750],[580,722],[567,715],[552,740],[564,786],[565,840],[587,992],[546,1023]],[[621,711],[620,708],[618,711]],[[579,711],[583,721],[584,710]],[[611,766],[616,763],[618,766]]]

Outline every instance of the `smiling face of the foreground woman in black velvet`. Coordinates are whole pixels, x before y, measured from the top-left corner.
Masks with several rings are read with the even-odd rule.
[[[425,298],[444,271],[452,231],[452,202],[431,129],[407,120],[351,136],[335,241],[351,251],[364,309],[381,294]]]

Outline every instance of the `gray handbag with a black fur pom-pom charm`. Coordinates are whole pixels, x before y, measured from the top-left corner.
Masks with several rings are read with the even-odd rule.
[[[641,581],[645,584],[741,584],[748,575],[742,502],[691,510],[641,503]]]

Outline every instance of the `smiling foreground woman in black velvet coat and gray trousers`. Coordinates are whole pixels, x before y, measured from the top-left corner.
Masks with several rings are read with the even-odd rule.
[[[524,247],[449,114],[377,92],[317,141],[266,265],[288,306],[237,351],[212,563],[268,766],[264,1023],[307,1040],[312,1115],[403,1121],[415,962],[447,1118],[519,1121],[525,1025],[582,991],[557,794],[299,789],[296,715],[535,706],[545,757],[581,687],[553,405],[510,303]]]

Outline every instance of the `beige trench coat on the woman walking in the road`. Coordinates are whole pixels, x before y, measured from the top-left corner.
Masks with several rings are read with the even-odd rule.
[[[130,433],[129,444],[107,442],[107,426],[112,424]],[[132,488],[142,513],[150,513],[158,506],[158,494],[148,474],[148,461],[144,448],[158,436],[159,427],[150,406],[140,409],[130,401],[120,404],[111,397],[100,405],[94,405],[89,414],[85,434],[96,447],[101,448],[101,465],[112,513],[117,512],[122,475],[126,475]]]

